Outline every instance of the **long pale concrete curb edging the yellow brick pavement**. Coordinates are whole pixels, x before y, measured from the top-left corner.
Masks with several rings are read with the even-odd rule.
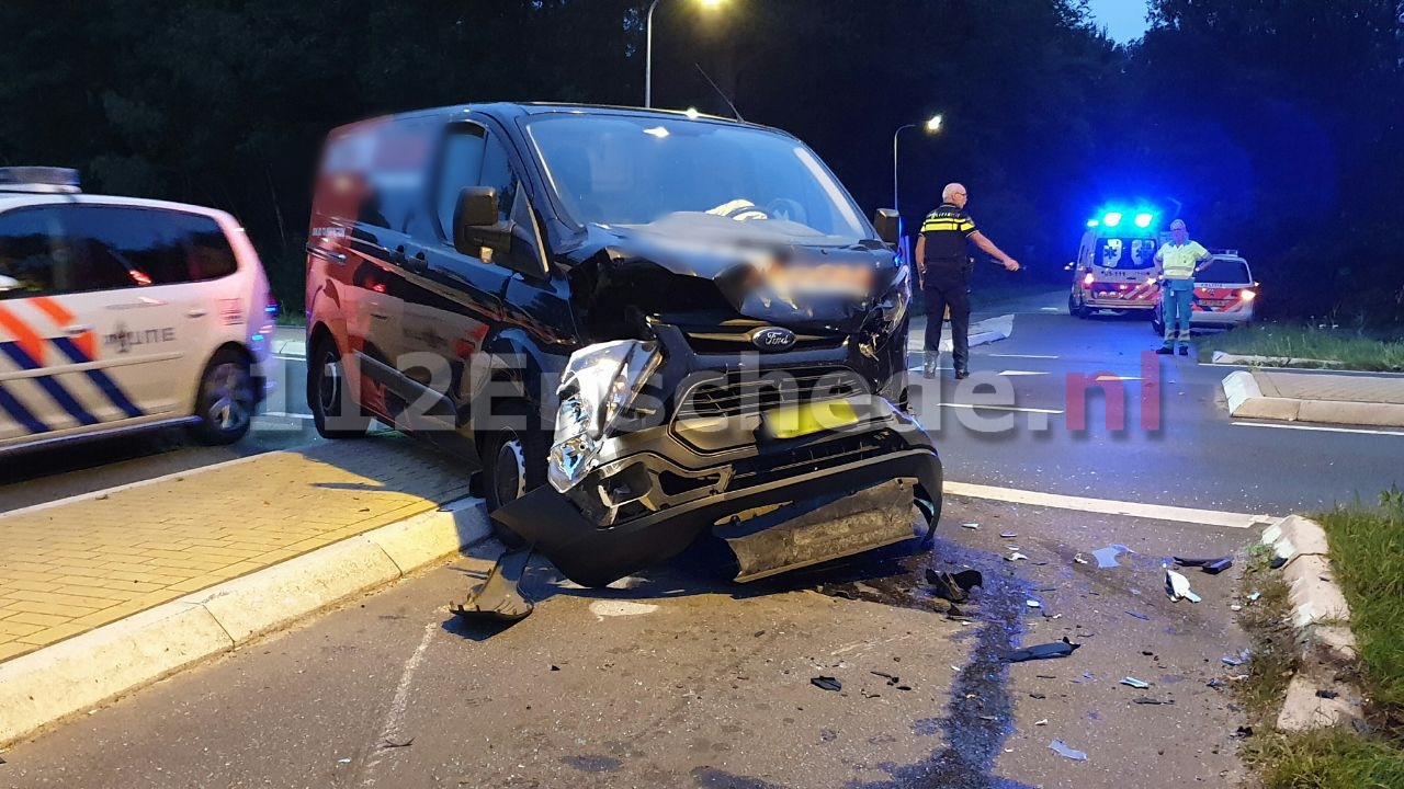
[[[482,542],[459,498],[0,663],[0,745]]]

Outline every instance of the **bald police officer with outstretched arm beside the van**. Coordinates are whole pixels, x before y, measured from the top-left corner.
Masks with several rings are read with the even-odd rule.
[[[969,378],[970,369],[970,265],[967,241],[1004,264],[1019,270],[1019,261],[1000,251],[990,239],[976,229],[966,213],[969,198],[960,184],[946,184],[941,191],[941,206],[927,215],[917,239],[917,271],[927,299],[927,354],[921,365],[922,378],[936,376],[941,355],[941,320],[951,307],[951,344],[956,378]]]

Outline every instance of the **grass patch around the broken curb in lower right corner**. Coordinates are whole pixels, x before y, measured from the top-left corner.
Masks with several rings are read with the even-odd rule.
[[[1404,491],[1386,493],[1379,508],[1339,507],[1318,519],[1360,646],[1355,681],[1365,694],[1366,726],[1273,730],[1297,657],[1286,626],[1286,588],[1258,553],[1245,580],[1261,587],[1262,598],[1244,614],[1258,651],[1238,692],[1259,736],[1243,754],[1259,768],[1266,789],[1404,788]]]

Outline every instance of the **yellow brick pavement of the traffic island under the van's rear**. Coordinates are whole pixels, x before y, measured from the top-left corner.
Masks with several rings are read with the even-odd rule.
[[[0,660],[468,494],[397,434],[0,515]]]

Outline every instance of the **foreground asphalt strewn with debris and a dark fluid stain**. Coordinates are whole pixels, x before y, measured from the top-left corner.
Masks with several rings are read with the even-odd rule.
[[[934,550],[755,585],[726,581],[712,545],[618,590],[538,566],[536,612],[505,629],[449,614],[487,569],[465,559],[20,744],[0,786],[1226,786],[1241,722],[1207,682],[1247,646],[1234,573],[1191,571],[1205,601],[1175,604],[1160,562],[1248,539],[951,500]],[[1136,553],[1098,569],[1109,543]],[[927,567],[984,573],[969,622]],[[1070,657],[1004,660],[1064,636]]]

